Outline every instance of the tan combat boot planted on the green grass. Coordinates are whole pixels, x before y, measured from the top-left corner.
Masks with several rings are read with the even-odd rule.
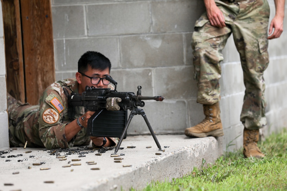
[[[260,151],[257,146],[259,140],[259,129],[249,130],[244,128],[243,131],[243,155],[245,157],[261,158],[265,155]]]

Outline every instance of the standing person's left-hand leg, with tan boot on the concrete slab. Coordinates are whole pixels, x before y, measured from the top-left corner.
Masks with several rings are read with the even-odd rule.
[[[232,24],[238,6],[229,6],[221,1],[220,4],[226,27],[219,28],[210,25],[203,14],[195,23],[193,32],[193,65],[194,78],[197,80],[197,102],[203,104],[205,119],[201,123],[185,129],[185,135],[189,137],[223,136],[220,119],[220,85],[221,77],[220,62],[223,60],[222,49],[231,34]]]

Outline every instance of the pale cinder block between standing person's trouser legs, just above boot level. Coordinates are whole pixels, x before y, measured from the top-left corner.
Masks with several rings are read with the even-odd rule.
[[[225,94],[234,94],[245,91],[243,71],[240,63],[225,63],[221,78],[223,78],[224,81]]]

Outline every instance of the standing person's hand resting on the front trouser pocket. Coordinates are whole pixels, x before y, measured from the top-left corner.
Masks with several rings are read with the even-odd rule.
[[[216,6],[214,1],[205,2],[207,17],[210,21],[210,24],[214,27],[225,27],[225,19],[222,11]]]

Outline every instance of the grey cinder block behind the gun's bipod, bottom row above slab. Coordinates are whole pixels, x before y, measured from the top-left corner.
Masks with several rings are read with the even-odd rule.
[[[156,134],[180,133],[187,127],[187,104],[181,100],[145,101],[148,121]],[[128,128],[129,135],[150,134],[142,116],[135,115]]]

